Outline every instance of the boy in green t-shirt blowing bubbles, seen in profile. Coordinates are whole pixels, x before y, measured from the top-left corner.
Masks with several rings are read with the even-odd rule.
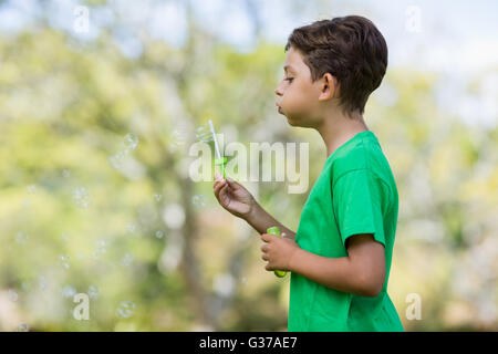
[[[266,269],[291,272],[289,331],[403,331],[388,294],[397,188],[363,112],[387,67],[387,45],[367,19],[317,21],[286,45],[277,106],[292,126],[317,129],[328,158],[297,233],[249,191],[216,176],[215,195],[259,233]],[[278,226],[286,237],[264,233]]]

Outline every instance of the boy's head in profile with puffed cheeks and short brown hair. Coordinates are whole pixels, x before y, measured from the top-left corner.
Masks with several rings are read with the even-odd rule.
[[[387,67],[384,37],[360,15],[294,29],[286,52],[277,105],[289,124],[303,127],[320,126],[333,110],[361,117]]]

